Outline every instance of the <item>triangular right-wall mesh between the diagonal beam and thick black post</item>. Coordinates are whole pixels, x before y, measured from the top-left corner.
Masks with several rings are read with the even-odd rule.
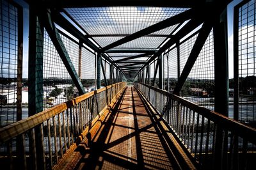
[[[195,104],[203,105],[208,109],[214,110],[213,31],[210,32],[205,41],[205,44],[182,87],[181,95]]]

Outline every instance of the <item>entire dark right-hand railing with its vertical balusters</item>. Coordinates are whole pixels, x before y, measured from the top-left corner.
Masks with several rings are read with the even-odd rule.
[[[253,169],[256,129],[167,91],[135,84],[203,169]]]

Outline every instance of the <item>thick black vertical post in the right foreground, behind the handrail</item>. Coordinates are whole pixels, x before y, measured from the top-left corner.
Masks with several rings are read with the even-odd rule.
[[[228,116],[228,50],[227,10],[214,25],[214,110]],[[221,125],[217,125],[214,145],[214,169],[227,169],[227,139]]]

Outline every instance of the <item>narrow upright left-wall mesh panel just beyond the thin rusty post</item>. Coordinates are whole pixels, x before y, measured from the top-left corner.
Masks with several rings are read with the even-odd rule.
[[[95,90],[95,54],[82,48],[81,79],[86,91]]]

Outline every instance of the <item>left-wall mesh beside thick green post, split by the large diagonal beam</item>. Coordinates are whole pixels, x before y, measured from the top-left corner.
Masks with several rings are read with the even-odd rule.
[[[78,72],[78,51],[76,42],[60,35],[74,68]],[[44,109],[58,105],[78,95],[78,91],[67,72],[51,38],[44,32]]]

